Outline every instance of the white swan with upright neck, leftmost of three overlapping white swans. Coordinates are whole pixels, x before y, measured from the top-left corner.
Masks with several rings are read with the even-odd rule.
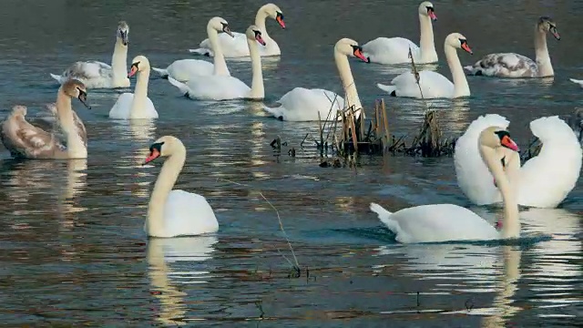
[[[218,31],[235,37],[230,32],[230,27],[226,20],[220,17],[210,18],[209,24],[207,24],[207,35],[209,36],[210,46],[216,54],[213,59],[214,65],[206,60],[180,59],[170,64],[166,69],[156,67],[152,67],[152,69],[158,72],[162,78],[168,78],[170,76],[180,82],[186,82],[192,76],[220,75],[229,77],[229,68],[227,67],[227,62],[225,62],[225,56],[223,56],[222,50],[220,49]]]

